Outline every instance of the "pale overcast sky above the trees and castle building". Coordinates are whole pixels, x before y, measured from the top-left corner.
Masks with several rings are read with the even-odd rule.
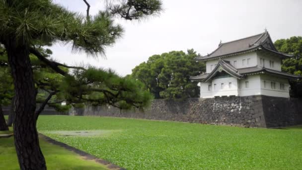
[[[82,0],[54,0],[85,14]],[[104,7],[104,0],[87,0],[90,13]],[[220,40],[227,42],[259,34],[265,28],[272,40],[302,36],[302,0],[162,0],[164,11],[138,21],[117,20],[124,35],[106,50],[106,58],[73,54],[69,46],[54,45],[53,57],[76,65],[89,63],[112,68],[125,76],[151,55],[194,48],[202,55],[211,53]]]

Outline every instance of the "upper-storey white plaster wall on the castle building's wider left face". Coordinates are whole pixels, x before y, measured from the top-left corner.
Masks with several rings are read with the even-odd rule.
[[[246,67],[254,67],[257,65],[257,54],[256,52],[249,52],[245,54],[230,56],[230,57],[224,57],[223,60],[227,60],[230,62],[232,66],[234,66],[234,61],[236,61],[236,66],[234,66],[236,69],[246,68]],[[249,60],[249,63],[247,64],[247,59]],[[245,64],[243,65],[242,60],[245,60]],[[215,68],[215,65],[218,64],[219,59],[216,60],[210,60],[206,63],[206,71],[207,73],[211,73],[211,66],[212,69]],[[260,60],[259,60],[260,61]]]

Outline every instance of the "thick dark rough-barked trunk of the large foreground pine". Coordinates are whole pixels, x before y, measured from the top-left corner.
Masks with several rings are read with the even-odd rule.
[[[5,42],[15,88],[14,143],[21,170],[46,170],[36,128],[36,95],[29,52],[11,39]]]

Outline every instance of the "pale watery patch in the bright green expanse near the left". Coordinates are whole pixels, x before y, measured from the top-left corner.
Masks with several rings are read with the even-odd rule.
[[[56,134],[59,136],[76,136],[76,137],[95,137],[95,136],[107,136],[121,130],[77,130],[77,131],[50,131],[49,134]]]

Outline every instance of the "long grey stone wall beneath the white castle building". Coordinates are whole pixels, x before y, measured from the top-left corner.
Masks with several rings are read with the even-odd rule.
[[[156,99],[144,111],[120,111],[110,106],[73,108],[70,115],[112,116],[221,124],[244,127],[277,127],[302,124],[302,100],[263,95]]]

